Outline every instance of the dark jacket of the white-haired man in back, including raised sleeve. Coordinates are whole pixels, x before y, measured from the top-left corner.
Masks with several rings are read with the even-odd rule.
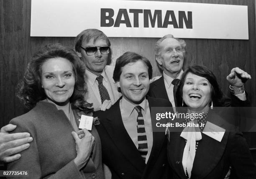
[[[182,98],[181,96],[177,96],[174,94],[177,98],[177,104],[175,106],[182,106]],[[158,80],[152,82],[150,84],[150,88],[148,91],[148,96],[151,96],[153,98],[163,98],[167,99],[168,95],[166,92],[165,84],[164,84],[164,76],[161,76]],[[250,101],[248,100],[248,96],[246,93],[246,101],[240,100],[238,97],[231,95],[230,96],[224,96],[224,105],[223,106],[233,106],[233,107],[239,107],[239,106],[250,106]]]

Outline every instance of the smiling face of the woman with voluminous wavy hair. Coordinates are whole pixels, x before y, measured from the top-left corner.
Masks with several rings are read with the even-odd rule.
[[[75,85],[72,64],[65,58],[50,58],[43,63],[41,71],[47,99],[59,106],[67,104]]]

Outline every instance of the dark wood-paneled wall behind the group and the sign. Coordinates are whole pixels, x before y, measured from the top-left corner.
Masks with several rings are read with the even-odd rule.
[[[184,67],[199,64],[210,68],[225,92],[228,92],[226,76],[230,70],[236,66],[246,70],[253,77],[253,80],[246,83],[246,90],[253,106],[256,106],[255,0],[169,1],[248,6],[249,40],[184,39],[187,43]],[[23,77],[31,55],[38,47],[47,43],[74,46],[74,38],[30,37],[30,19],[31,0],[0,0],[0,127],[8,124],[11,118],[26,112],[15,97],[15,88]],[[110,40],[113,63],[125,51],[134,51],[146,56],[152,62],[154,76],[161,74],[154,61],[153,51],[154,43],[158,38],[110,38]],[[248,138],[249,143],[256,147],[255,137],[253,139],[252,136]]]

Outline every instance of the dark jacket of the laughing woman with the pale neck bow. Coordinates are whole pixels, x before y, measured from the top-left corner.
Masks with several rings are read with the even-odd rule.
[[[207,121],[226,128],[225,120],[209,111]],[[168,161],[173,169],[172,179],[187,179],[182,166],[186,145],[181,132],[170,133],[167,144]],[[191,179],[224,179],[231,166],[230,179],[255,179],[255,166],[246,140],[240,132],[225,132],[221,142],[202,134],[192,168]]]

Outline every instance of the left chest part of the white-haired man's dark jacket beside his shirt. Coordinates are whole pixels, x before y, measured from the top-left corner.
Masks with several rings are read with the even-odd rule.
[[[156,96],[156,98],[163,98],[163,99],[169,100],[166,92],[166,88],[164,85],[164,76],[161,76],[161,78],[155,81],[152,91],[154,93],[154,96]]]

